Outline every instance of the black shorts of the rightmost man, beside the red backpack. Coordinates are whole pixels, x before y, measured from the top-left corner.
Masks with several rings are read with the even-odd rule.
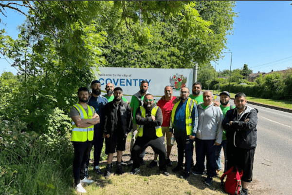
[[[242,181],[251,182],[253,180],[255,150],[256,148],[249,150],[241,148],[236,149],[234,157],[236,159],[237,167],[243,170]]]

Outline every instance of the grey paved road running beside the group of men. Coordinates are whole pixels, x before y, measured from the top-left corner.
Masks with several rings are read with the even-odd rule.
[[[292,113],[247,105],[259,111],[254,181],[263,195],[292,195]]]

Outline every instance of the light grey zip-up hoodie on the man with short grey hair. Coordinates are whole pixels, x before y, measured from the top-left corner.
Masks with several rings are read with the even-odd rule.
[[[220,107],[213,105],[213,102],[205,110],[198,105],[199,123],[196,137],[202,140],[216,139],[216,142],[221,144],[223,128],[222,120],[223,113]]]

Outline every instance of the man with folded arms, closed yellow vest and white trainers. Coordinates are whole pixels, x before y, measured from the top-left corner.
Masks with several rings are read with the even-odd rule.
[[[78,89],[79,102],[70,109],[72,118],[72,137],[74,147],[73,176],[75,189],[79,193],[86,193],[82,183],[93,183],[93,180],[86,178],[86,162],[90,156],[93,140],[93,125],[100,122],[92,106],[87,105],[89,91],[86,87]]]

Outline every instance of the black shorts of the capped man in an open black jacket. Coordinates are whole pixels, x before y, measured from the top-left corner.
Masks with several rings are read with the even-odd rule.
[[[124,135],[113,135],[109,138],[106,137],[106,154],[115,153],[118,151],[126,150],[126,139]]]

